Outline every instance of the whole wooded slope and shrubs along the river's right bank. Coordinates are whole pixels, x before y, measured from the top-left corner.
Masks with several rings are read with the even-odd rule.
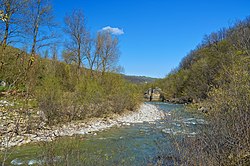
[[[250,164],[249,17],[205,36],[158,86],[166,98],[189,100],[208,109],[209,125],[197,138],[187,139],[180,152],[183,162]]]

